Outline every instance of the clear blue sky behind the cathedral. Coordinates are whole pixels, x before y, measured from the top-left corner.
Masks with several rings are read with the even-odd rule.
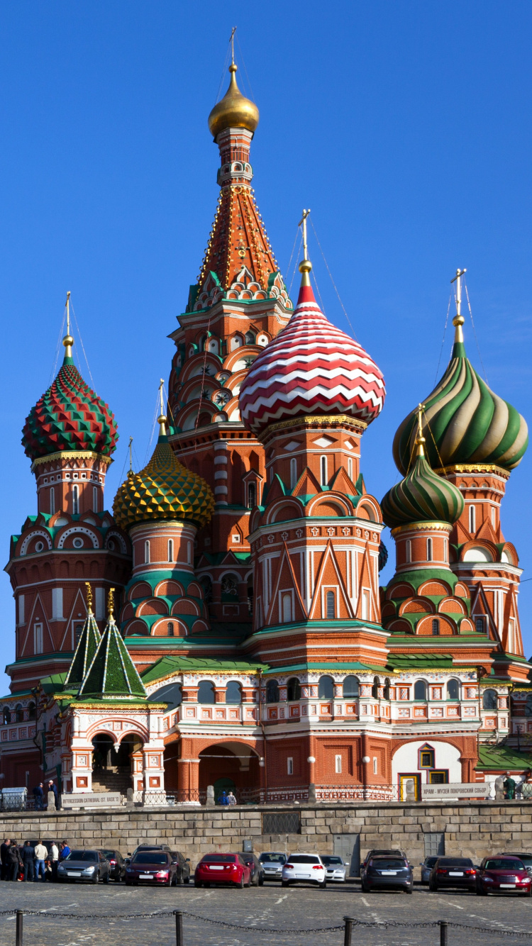
[[[168,333],[195,282],[218,187],[207,130],[231,26],[243,91],[260,110],[257,202],[285,273],[301,208],[357,338],[387,383],[364,434],[378,499],[396,481],[399,421],[434,386],[450,280],[467,267],[489,385],[530,420],[532,7],[417,0],[248,4],[206,0],[0,7],[0,534],[36,500],[20,447],[47,387],[67,289],[98,394],[121,439],[111,507],[134,437],[143,464]],[[241,54],[240,54],[241,50]],[[226,85],[223,76],[222,91]],[[350,331],[310,231],[328,317]],[[439,374],[450,355],[443,342]],[[81,355],[82,358],[82,355]],[[81,369],[90,381],[84,362]],[[530,455],[512,474],[503,526],[532,577]],[[384,539],[386,541],[386,538]],[[393,561],[393,543],[389,539]],[[385,574],[391,573],[390,566]],[[0,581],[0,667],[14,654]],[[523,585],[532,653],[532,581]]]

